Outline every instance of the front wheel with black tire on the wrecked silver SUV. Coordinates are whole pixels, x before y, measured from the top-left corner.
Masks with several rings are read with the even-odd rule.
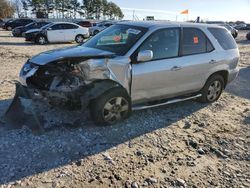
[[[90,103],[90,114],[96,125],[118,123],[131,114],[131,100],[123,89],[111,89]]]

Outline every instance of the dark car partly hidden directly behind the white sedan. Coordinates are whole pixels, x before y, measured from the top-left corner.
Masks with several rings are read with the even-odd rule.
[[[19,26],[12,30],[14,37],[25,36],[25,32],[31,29],[40,29],[41,27],[49,24],[50,22],[32,22],[25,26]]]

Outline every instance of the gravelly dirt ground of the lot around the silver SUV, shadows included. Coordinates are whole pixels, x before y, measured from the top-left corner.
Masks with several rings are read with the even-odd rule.
[[[245,34],[237,39],[240,75],[211,105],[187,101],[96,127],[87,112],[26,100],[30,111],[13,126],[3,115],[22,65],[40,52],[75,44],[38,46],[0,30],[0,187],[250,187]],[[40,117],[43,131],[35,127]]]

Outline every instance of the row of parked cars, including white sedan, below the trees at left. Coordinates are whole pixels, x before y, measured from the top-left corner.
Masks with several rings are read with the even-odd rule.
[[[71,22],[47,22],[35,21],[33,19],[13,19],[3,23],[3,29],[12,31],[14,37],[25,37],[26,41],[37,44],[52,42],[71,42],[82,43],[90,35],[96,35],[104,29],[115,24],[111,21],[96,23],[94,21]]]

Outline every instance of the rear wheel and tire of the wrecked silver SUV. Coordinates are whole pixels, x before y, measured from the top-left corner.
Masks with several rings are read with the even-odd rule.
[[[220,98],[224,88],[224,78],[219,74],[215,74],[207,80],[201,90],[202,97],[200,97],[198,101],[202,103],[213,103]]]

